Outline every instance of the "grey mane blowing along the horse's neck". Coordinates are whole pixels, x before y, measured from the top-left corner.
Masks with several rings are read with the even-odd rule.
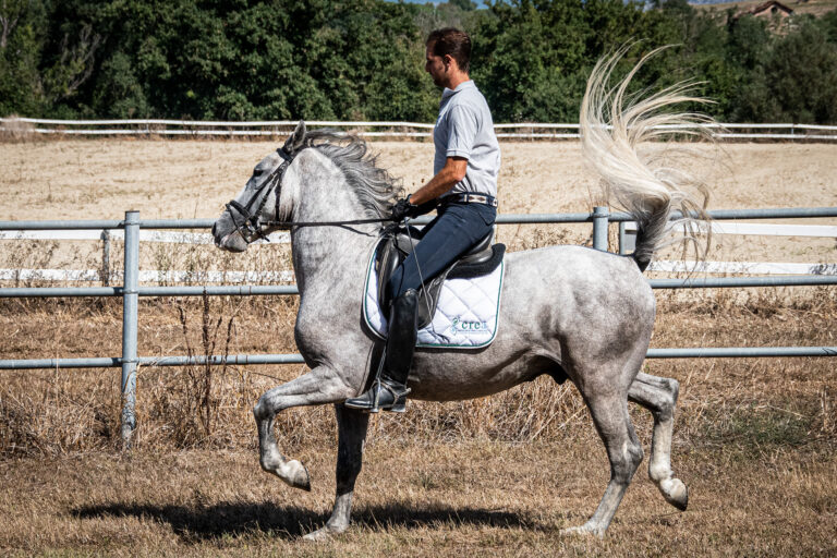
[[[386,218],[404,189],[399,180],[377,166],[377,156],[368,153],[364,140],[332,129],[306,131],[304,147],[313,147],[328,157],[345,175],[367,217]]]

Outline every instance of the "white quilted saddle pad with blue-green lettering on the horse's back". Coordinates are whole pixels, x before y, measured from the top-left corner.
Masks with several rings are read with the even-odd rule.
[[[486,276],[446,280],[439,292],[433,320],[418,330],[416,347],[478,349],[489,345],[497,335],[504,268],[505,262],[500,262]],[[378,306],[378,274],[375,270],[374,252],[368,269],[363,316],[369,329],[386,339],[388,324],[387,316]]]

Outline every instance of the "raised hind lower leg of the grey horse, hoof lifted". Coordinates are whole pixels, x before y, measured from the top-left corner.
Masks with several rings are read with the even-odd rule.
[[[648,476],[668,504],[684,511],[689,504],[689,490],[671,471],[671,435],[679,389],[676,379],[640,373],[628,390],[628,399],[644,407],[654,416]]]

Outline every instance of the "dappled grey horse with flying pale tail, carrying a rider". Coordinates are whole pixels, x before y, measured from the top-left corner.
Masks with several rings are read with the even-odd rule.
[[[565,531],[599,536],[643,459],[628,401],[654,416],[648,475],[669,504],[687,507],[687,487],[670,465],[678,383],[640,372],[655,315],[642,270],[662,242],[670,213],[700,213],[703,205],[680,187],[681,173],[662,163],[654,167],[656,159],[638,153],[640,142],[657,134],[651,124],[679,124],[693,117],[656,109],[691,97],[676,86],[623,108],[630,75],[606,88],[617,58],[594,70],[581,128],[584,153],[610,199],[636,218],[633,257],[583,246],[509,253],[494,342],[474,351],[418,350],[409,378],[410,398],[427,401],[489,396],[543,374],[570,379],[604,441],[610,481],[590,520]],[[389,174],[375,167],[362,141],[307,131],[301,122],[282,148],[258,162],[213,228],[218,246],[241,252],[279,223],[294,223],[288,226],[300,290],[294,336],[311,372],[267,391],[253,413],[262,469],[310,489],[305,466],[279,450],[274,417],[292,407],[335,405],[337,497],[328,522],[307,538],[340,533],[350,522],[368,415],[342,402],[364,390],[376,353],[374,337],[361,326],[361,305],[368,257],[383,226],[364,221],[386,218],[401,194]]]

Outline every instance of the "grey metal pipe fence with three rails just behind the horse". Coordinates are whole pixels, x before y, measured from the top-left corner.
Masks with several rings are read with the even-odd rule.
[[[799,219],[837,217],[837,207],[793,209],[741,209],[709,211],[713,219]],[[679,217],[678,215],[672,218]],[[417,225],[429,218],[416,219]],[[579,214],[526,214],[500,215],[505,223],[592,223],[593,247],[606,251],[609,223],[619,223],[620,246],[623,245],[624,225],[632,218],[623,213],[609,213],[607,207],[595,207],[593,213]],[[130,442],[136,425],[134,415],[136,369],[144,366],[184,366],[192,364],[302,364],[300,354],[236,354],[197,356],[140,356],[137,354],[137,307],[140,296],[203,296],[203,295],[295,295],[295,286],[204,286],[204,287],[146,287],[138,284],[140,231],[142,229],[208,229],[211,219],[149,219],[140,220],[138,211],[126,211],[124,220],[54,220],[54,221],[0,221],[0,231],[35,230],[122,230],[124,232],[124,275],[121,287],[37,287],[0,288],[0,298],[50,296],[121,296],[122,298],[122,355],[113,357],[81,359],[19,359],[0,360],[0,369],[22,368],[89,368],[119,367],[122,369],[123,397],[122,438]],[[621,250],[620,250],[621,251]],[[720,277],[688,279],[651,279],[654,289],[742,288],[778,286],[837,284],[834,275],[772,276],[772,277]],[[683,357],[752,357],[752,356],[836,356],[837,347],[763,347],[763,348],[669,348],[650,349],[648,359]]]

